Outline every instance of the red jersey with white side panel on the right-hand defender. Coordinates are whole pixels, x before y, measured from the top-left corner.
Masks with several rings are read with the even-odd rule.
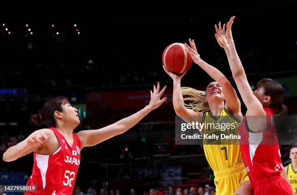
[[[247,169],[249,180],[253,186],[257,181],[283,170],[280,146],[275,126],[272,122],[273,109],[264,107],[269,128],[262,133],[249,130],[246,115],[239,127],[240,150]]]

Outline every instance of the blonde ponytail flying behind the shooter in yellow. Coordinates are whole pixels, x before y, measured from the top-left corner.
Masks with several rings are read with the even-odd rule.
[[[195,90],[193,88],[182,87],[181,94],[185,96],[183,101],[190,101],[189,104],[184,104],[186,108],[192,109],[195,112],[204,112],[209,110],[207,102],[205,102],[206,92]]]

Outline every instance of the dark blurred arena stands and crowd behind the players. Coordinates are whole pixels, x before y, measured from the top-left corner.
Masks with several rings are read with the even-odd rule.
[[[296,115],[296,9],[294,1],[276,1],[169,13],[122,11],[99,14],[98,19],[2,18],[1,154],[39,128],[30,117],[51,97],[66,96],[79,109],[77,131],[101,128],[147,105],[149,90],[159,81],[168,86],[165,104],[125,134],[82,150],[75,185],[85,194],[93,188],[102,195],[112,195],[111,190],[130,194],[131,188],[138,195],[172,195],[178,188],[183,194],[185,188],[198,193],[199,187],[213,187],[202,146],[174,144],[172,79],[162,68],[162,52],[171,43],[194,38],[201,58],[234,84],[226,55],[214,38],[214,24],[236,15],[232,32],[250,85],[264,77],[278,80],[286,90],[289,114]],[[211,81],[193,64],[181,84],[203,90]],[[245,109],[243,105],[243,113]],[[284,165],[289,148],[281,146]],[[25,184],[32,165],[32,154],[10,163],[1,159],[0,184]]]

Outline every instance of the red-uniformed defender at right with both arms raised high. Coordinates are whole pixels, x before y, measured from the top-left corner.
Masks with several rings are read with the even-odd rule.
[[[268,78],[257,83],[257,90],[251,90],[232,38],[234,18],[227,23],[226,32],[225,25],[223,30],[220,23],[219,28],[215,25],[215,38],[227,54],[232,76],[247,106],[239,127],[240,149],[247,174],[255,195],[292,195],[289,183],[281,177],[280,146],[271,120],[275,115],[286,115],[287,109],[282,104],[284,90],[281,84]]]

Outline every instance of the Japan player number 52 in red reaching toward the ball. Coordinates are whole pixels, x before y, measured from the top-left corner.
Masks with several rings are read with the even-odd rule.
[[[3,154],[6,162],[34,151],[32,176],[27,185],[36,185],[36,192],[26,195],[72,195],[80,165],[81,150],[122,134],[142,120],[149,112],[166,101],[160,100],[166,86],[160,90],[153,86],[150,102],[142,110],[119,120],[114,124],[97,130],[73,130],[80,124],[78,110],[72,107],[66,97],[56,97],[43,105],[39,114],[32,116],[36,125],[45,124],[48,128],[40,129],[29,135],[24,141],[10,147]]]

